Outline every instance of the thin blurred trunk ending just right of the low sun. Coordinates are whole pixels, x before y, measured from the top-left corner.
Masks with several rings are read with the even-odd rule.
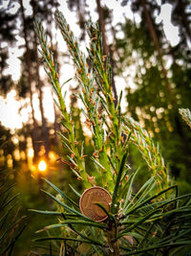
[[[32,18],[34,20],[35,15],[37,14],[37,6],[34,0],[32,0]],[[45,156],[48,159],[49,151],[50,151],[50,143],[49,143],[49,130],[47,128],[47,120],[44,115],[44,107],[43,107],[43,83],[40,79],[39,75],[39,68],[40,68],[40,61],[38,57],[38,49],[37,49],[37,38],[34,33],[34,54],[35,54],[35,71],[36,71],[36,84],[38,89],[38,99],[39,99],[39,106],[40,106],[40,114],[41,114],[41,121],[42,121],[42,140],[43,145],[45,147]]]

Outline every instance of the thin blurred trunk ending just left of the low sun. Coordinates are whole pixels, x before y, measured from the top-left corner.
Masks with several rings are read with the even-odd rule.
[[[38,133],[37,133],[37,123],[34,117],[34,109],[32,104],[32,61],[31,61],[31,51],[29,46],[29,38],[27,33],[27,20],[25,18],[24,13],[24,7],[23,7],[23,0],[19,0],[20,6],[21,6],[21,16],[22,16],[22,22],[23,22],[23,33],[24,33],[24,39],[25,39],[25,48],[26,48],[26,61],[27,61],[27,70],[28,70],[28,83],[29,83],[29,89],[30,89],[30,102],[32,107],[32,147],[34,151],[34,157],[33,160],[36,162],[38,158]]]

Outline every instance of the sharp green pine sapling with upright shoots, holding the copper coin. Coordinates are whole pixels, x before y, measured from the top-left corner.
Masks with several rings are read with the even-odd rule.
[[[86,118],[83,125],[91,131],[90,141],[94,148],[92,155],[86,155],[84,143],[77,140],[73,110],[67,110],[53,52],[41,22],[36,19],[40,52],[61,113],[63,131],[59,135],[68,151],[67,162],[84,189],[95,185],[104,187],[112,195],[112,203],[109,212],[97,203],[107,213],[108,219],[93,221],[79,211],[80,195],[73,186],[74,197],[69,197],[45,179],[55,194],[47,190],[44,193],[54,200],[56,209],[32,211],[54,215],[57,222],[39,230],[48,232],[48,236],[36,241],[52,241],[56,253],[59,251],[65,255],[172,255],[182,251],[191,242],[191,195],[179,197],[177,185],[167,180],[159,147],[137,122],[121,114],[122,93],[115,108],[110,58],[102,55],[97,25],[87,24],[90,37],[87,61],[61,12],[55,12],[55,20],[74,60],[75,79],[80,86],[76,97],[83,104],[81,111]],[[150,175],[142,186],[136,186],[136,190],[138,170],[132,172],[127,161],[130,143],[138,147]],[[91,172],[92,169],[87,168],[85,158],[92,160],[96,170],[94,168]],[[49,236],[52,230],[55,230],[55,235]]]

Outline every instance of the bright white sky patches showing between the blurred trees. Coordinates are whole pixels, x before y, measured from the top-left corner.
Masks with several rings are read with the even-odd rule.
[[[79,27],[76,24],[76,16],[74,12],[70,12],[66,1],[59,0],[60,2],[60,8],[59,10],[61,12],[64,12],[64,15],[67,20],[70,22],[70,26],[72,30],[74,31],[74,35],[79,35],[80,30]],[[97,13],[96,10],[96,1],[87,0],[86,1],[89,6],[89,12],[91,13],[93,21],[96,21],[97,19]],[[3,4],[2,4],[3,3]],[[116,0],[102,0],[101,3],[104,3],[110,10],[113,10],[113,25],[116,25],[119,21],[124,21],[124,16],[127,16],[130,19],[135,18],[136,21],[139,21],[138,15],[133,16],[133,12],[131,12],[130,5],[127,5],[126,7],[121,7],[120,3],[121,1]],[[158,3],[160,4],[160,0],[158,0]],[[9,4],[9,0],[3,0],[0,4],[1,8],[6,8]],[[29,5],[29,0],[24,0],[24,6],[26,8],[26,13],[30,14],[32,12],[31,7]],[[10,12],[16,12],[19,8],[19,5],[15,2],[13,2],[12,8]],[[157,17],[156,21],[161,22],[163,24],[163,31],[166,35],[167,39],[170,41],[172,46],[175,46],[179,43],[180,37],[179,37],[179,29],[175,27],[171,23],[171,12],[172,12],[172,6],[170,4],[164,4],[161,6],[159,16]],[[23,44],[23,41],[20,37],[18,39],[18,44],[16,47],[10,49],[10,59],[8,60],[9,68],[7,69],[7,73],[11,74],[13,81],[18,81],[20,77],[20,60],[19,57],[22,56],[22,49],[19,49],[18,46],[20,44]],[[63,39],[60,37],[60,35],[56,35],[56,40],[58,41],[58,47],[63,48]],[[71,64],[65,65],[64,70],[67,72],[62,73],[61,81],[67,81],[68,79],[74,77],[74,68]],[[44,74],[45,75],[45,74]],[[62,83],[61,82],[61,83]],[[125,81],[121,78],[116,79],[117,84],[120,84],[120,86],[117,85],[117,94],[120,93],[120,90],[124,90],[125,88]],[[66,85],[64,90],[69,90],[70,84]],[[134,84],[132,83],[132,86]],[[64,92],[63,92],[64,93]],[[53,122],[53,97],[51,93],[51,88],[45,87],[44,89],[44,105],[45,107],[45,116],[49,119],[49,121]],[[66,99],[69,99],[67,97]],[[27,100],[29,101],[29,99]],[[38,99],[37,94],[33,95],[33,103],[35,106],[35,117],[40,120],[40,113],[38,110]],[[11,128],[13,130],[14,128],[22,128],[22,123],[28,121],[29,113],[31,111],[30,106],[25,107],[22,109],[21,112],[19,112],[19,108],[21,105],[25,105],[25,102],[22,101],[16,101],[16,93],[14,90],[12,90],[8,95],[6,99],[3,99],[0,96],[0,122],[3,126],[7,128]],[[67,101],[67,105],[69,105],[69,101]],[[125,96],[123,95],[122,100],[123,108],[126,106],[125,102]]]

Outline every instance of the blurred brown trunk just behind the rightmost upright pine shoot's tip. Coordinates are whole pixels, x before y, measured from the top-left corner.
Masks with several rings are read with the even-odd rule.
[[[102,34],[102,43],[103,43],[103,54],[104,55],[108,55],[110,54],[110,60],[111,60],[111,65],[112,65],[112,89],[113,89],[113,93],[114,93],[114,97],[115,97],[115,106],[117,106],[117,88],[116,88],[116,83],[114,80],[114,60],[113,60],[113,56],[112,56],[112,51],[110,49],[110,47],[107,44],[107,38],[106,38],[106,33],[105,33],[105,18],[104,18],[104,12],[103,12],[103,8],[100,5],[100,0],[96,0],[96,5],[97,5],[97,12],[98,12],[98,25],[99,25],[99,29],[101,31]]]

